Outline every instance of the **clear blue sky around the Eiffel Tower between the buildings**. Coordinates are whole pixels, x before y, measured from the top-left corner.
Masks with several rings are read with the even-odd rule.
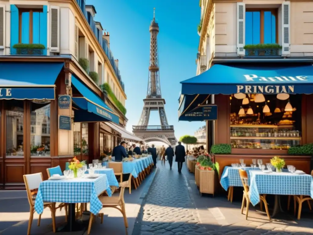
[[[169,125],[174,125],[175,136],[193,135],[203,122],[178,122],[180,81],[196,74],[200,21],[199,1],[178,0],[87,0],[97,11],[96,21],[110,33],[110,49],[119,60],[119,69],[125,83],[126,129],[137,125],[148,83],[150,33],[149,25],[156,8],[160,81],[162,97]],[[150,115],[149,125],[160,125],[157,112]]]

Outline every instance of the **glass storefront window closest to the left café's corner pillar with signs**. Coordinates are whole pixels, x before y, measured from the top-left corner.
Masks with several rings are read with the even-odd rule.
[[[34,102],[31,107],[31,156],[50,156],[50,104]]]

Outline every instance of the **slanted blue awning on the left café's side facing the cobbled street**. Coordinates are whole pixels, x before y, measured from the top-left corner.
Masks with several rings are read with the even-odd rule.
[[[119,117],[81,81],[72,75],[72,84],[83,97],[72,97],[73,102],[80,108],[74,110],[74,122],[105,122],[119,124]]]

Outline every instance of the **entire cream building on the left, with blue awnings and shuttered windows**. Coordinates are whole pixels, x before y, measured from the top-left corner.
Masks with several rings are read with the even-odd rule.
[[[2,188],[139,141],[125,130],[124,83],[95,14],[85,0],[0,0]]]

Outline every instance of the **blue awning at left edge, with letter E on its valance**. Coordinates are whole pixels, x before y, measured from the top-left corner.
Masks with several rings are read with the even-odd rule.
[[[54,100],[54,83],[63,65],[63,62],[0,63],[0,99]]]

